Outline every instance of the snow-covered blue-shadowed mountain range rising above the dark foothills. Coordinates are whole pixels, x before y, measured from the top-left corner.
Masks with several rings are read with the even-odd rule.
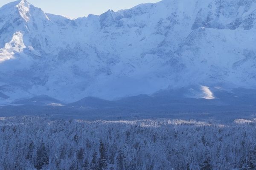
[[[0,8],[0,102],[191,85],[213,99],[208,87],[256,88],[255,25],[256,0],[163,0],[76,20],[9,3]]]

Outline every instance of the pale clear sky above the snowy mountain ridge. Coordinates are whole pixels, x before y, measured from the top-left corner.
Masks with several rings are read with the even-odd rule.
[[[15,0],[0,0],[0,6]],[[160,0],[28,0],[44,12],[67,17],[84,17],[88,14],[102,14],[108,9],[128,9],[140,3],[156,3]]]

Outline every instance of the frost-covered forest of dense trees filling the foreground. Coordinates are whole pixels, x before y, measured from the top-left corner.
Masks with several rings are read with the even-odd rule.
[[[1,170],[255,170],[256,121],[0,119]]]

